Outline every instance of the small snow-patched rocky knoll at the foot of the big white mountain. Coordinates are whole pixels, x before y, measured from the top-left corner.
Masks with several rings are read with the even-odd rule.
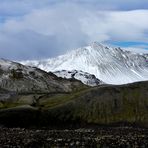
[[[89,86],[97,86],[103,84],[103,82],[97,79],[95,75],[79,70],[72,70],[72,71],[61,70],[61,71],[55,71],[53,73],[58,77],[67,78],[67,79],[74,78],[80,80],[82,81],[82,83]]]

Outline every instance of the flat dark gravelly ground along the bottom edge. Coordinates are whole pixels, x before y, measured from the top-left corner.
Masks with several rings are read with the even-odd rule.
[[[148,129],[106,127],[77,130],[0,128],[0,148],[147,148]]]

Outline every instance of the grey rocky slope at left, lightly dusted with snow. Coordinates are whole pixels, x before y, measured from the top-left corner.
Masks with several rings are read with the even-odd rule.
[[[0,88],[14,93],[70,92],[81,82],[59,79],[53,73],[0,59]]]

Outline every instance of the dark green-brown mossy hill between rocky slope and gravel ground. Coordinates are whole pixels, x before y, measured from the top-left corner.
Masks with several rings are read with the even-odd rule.
[[[13,100],[1,101],[0,124],[25,127],[148,125],[148,81],[31,95],[20,94]]]

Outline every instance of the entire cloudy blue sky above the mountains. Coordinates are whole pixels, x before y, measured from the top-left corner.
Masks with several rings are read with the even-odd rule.
[[[148,51],[148,0],[0,0],[0,58],[50,58],[94,41]]]

